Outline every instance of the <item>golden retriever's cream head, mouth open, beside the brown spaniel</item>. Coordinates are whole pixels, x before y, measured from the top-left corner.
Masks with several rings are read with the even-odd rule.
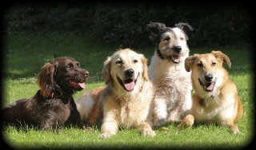
[[[149,80],[147,60],[142,54],[131,49],[119,49],[111,57],[107,57],[102,77],[106,84],[112,84],[118,86],[115,88],[131,92],[139,83],[142,83],[142,80]]]

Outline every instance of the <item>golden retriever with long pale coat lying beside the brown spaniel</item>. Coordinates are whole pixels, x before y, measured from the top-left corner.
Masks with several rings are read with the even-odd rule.
[[[118,127],[135,127],[143,136],[152,130],[153,85],[147,75],[147,60],[130,49],[120,49],[104,62],[105,88],[94,89],[76,101],[82,120],[89,124],[103,121],[101,136],[110,137]],[[99,123],[100,124],[100,123]]]

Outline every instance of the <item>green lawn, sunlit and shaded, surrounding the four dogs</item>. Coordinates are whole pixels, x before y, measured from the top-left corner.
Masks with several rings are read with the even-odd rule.
[[[193,39],[190,39],[193,40]],[[80,97],[87,90],[104,85],[101,77],[102,64],[117,45],[104,45],[86,36],[74,34],[41,35],[11,34],[5,37],[5,77],[3,79],[3,105],[20,98],[33,97],[38,90],[36,76],[42,65],[56,56],[74,57],[82,67],[90,71],[86,89],[74,95]],[[154,48],[135,49],[150,61]],[[231,79],[238,85],[244,116],[238,121],[240,134],[232,135],[229,128],[218,124],[197,124],[193,128],[178,130],[178,123],[166,124],[168,130],[154,128],[157,136],[142,137],[134,129],[121,128],[110,139],[102,140],[100,131],[94,128],[85,131],[66,127],[57,131],[41,131],[37,128],[22,129],[12,126],[3,128],[2,136],[13,148],[242,148],[254,137],[254,102],[252,71],[252,48],[250,45],[229,45],[218,47],[190,47],[190,54],[210,53],[222,50],[230,57],[232,68],[228,69]]]

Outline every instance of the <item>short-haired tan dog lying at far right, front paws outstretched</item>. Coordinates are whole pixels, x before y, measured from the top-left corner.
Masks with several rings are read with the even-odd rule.
[[[192,71],[195,93],[190,114],[178,125],[178,128],[192,127],[196,122],[221,122],[230,126],[232,132],[239,132],[234,121],[243,115],[237,87],[230,81],[229,74],[222,63],[231,65],[229,57],[221,51],[206,54],[194,54],[186,58],[185,68]]]

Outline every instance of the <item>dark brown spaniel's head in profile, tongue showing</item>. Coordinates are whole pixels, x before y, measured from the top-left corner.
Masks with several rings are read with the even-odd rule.
[[[70,57],[58,57],[46,62],[38,74],[38,85],[43,97],[54,97],[54,94],[73,94],[85,89],[89,77],[86,69],[81,69],[78,61]]]

